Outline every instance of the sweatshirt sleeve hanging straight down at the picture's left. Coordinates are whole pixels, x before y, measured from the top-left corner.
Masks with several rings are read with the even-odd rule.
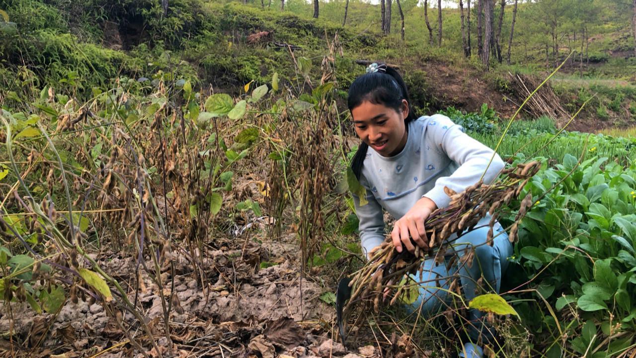
[[[360,206],[360,198],[353,194],[356,215],[359,220],[360,241],[362,252],[368,259],[368,253],[384,241],[384,215],[382,206],[378,203],[370,190],[366,190],[367,204]]]

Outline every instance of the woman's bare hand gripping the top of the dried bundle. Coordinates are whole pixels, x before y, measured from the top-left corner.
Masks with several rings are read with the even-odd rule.
[[[402,252],[402,245],[409,252],[415,252],[415,246],[411,243],[411,238],[419,247],[429,248],[424,221],[436,208],[437,205],[434,201],[428,197],[422,197],[403,217],[396,221],[391,232],[391,238],[397,252]]]

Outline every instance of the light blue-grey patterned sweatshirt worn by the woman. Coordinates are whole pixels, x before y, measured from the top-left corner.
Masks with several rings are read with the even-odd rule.
[[[492,149],[464,133],[460,125],[439,114],[410,122],[406,145],[393,157],[383,157],[368,148],[360,183],[366,188],[369,203],[360,206],[359,197],[354,195],[363,253],[367,255],[385,240],[382,209],[397,220],[424,196],[438,208],[445,208],[450,197],[444,187],[462,192],[478,182],[493,154]],[[492,182],[504,168],[501,157],[494,155],[483,178],[485,183]],[[487,216],[477,225],[489,221]]]

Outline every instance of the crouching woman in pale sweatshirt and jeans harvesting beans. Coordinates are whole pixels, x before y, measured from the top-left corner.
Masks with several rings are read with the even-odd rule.
[[[359,197],[354,196],[363,252],[369,255],[384,241],[383,209],[397,220],[391,238],[398,252],[413,252],[415,245],[427,248],[426,218],[450,203],[444,187],[462,192],[478,182],[484,172],[484,182],[490,183],[504,168],[504,162],[450,118],[417,118],[395,69],[374,63],[366,71],[351,84],[348,99],[356,134],[362,140],[351,166],[366,188],[368,201],[361,205]],[[489,221],[490,217],[485,217],[476,227],[487,226]],[[482,276],[483,285],[499,292],[512,246],[501,225],[496,224],[494,229],[499,234],[492,247],[485,245],[488,227],[449,238],[449,245],[460,257],[474,248],[473,262],[455,265],[449,272],[447,265],[427,259],[422,274],[413,276],[420,282],[420,297],[411,308],[425,315],[439,310],[446,301],[448,277],[452,275],[460,276],[467,301],[475,296],[476,282]],[[480,312],[471,310],[473,321],[479,317]],[[476,340],[480,329],[469,333]],[[481,348],[473,343],[465,343],[460,353],[462,357],[482,355]]]

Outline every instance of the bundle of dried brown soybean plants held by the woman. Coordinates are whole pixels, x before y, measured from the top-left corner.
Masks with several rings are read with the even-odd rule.
[[[363,268],[352,275],[352,280],[349,282],[352,294],[345,311],[349,311],[352,304],[357,301],[373,302],[375,310],[378,311],[385,288],[391,290],[396,287],[391,282],[399,281],[407,273],[415,274],[422,270],[422,263],[429,257],[435,257],[438,264],[443,262],[446,246],[448,246],[445,245],[446,240],[452,234],[470,231],[487,213],[492,217],[487,244],[492,246],[493,227],[499,217],[497,210],[503,204],[508,205],[516,199],[539,168],[541,163],[538,161],[518,164],[516,167],[504,169],[496,182],[487,185],[480,181],[459,194],[445,188],[446,194],[451,197],[450,204],[446,208],[433,211],[424,223],[429,238],[429,250],[420,249],[415,245],[414,254],[406,250],[399,253],[389,236],[371,254],[370,260]],[[511,242],[516,240],[518,223],[533,203],[532,194],[529,192],[521,201],[515,222],[511,226],[509,232]],[[464,257],[469,257],[469,254],[465,254]],[[400,285],[397,288],[391,304],[401,296],[406,286]]]

